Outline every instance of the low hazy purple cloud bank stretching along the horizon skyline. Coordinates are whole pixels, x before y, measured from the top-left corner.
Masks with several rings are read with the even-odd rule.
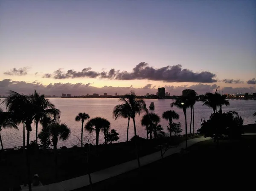
[[[220,88],[217,84],[203,84],[198,83],[195,85],[184,85],[184,86],[165,86],[166,92],[170,92],[171,95],[180,95],[184,89],[194,89],[198,94],[205,94],[206,92],[214,92],[216,88],[223,91],[224,94],[233,94],[239,92],[256,92],[256,87],[251,86],[248,88],[233,88],[233,87],[224,87]],[[152,87],[151,84],[146,84],[142,88],[134,88],[132,85],[128,87],[113,87],[113,86],[104,86],[98,88],[93,86],[92,83],[50,83],[48,85],[43,85],[41,82],[34,81],[32,83],[27,83],[23,81],[12,81],[10,79],[5,79],[0,81],[0,95],[5,95],[8,90],[17,91],[23,94],[31,94],[34,89],[36,89],[41,94],[46,95],[56,95],[60,96],[64,94],[72,95],[86,95],[97,93],[103,95],[107,92],[110,95],[118,94],[122,95],[130,91],[135,91],[137,95],[145,95],[146,93],[156,94],[157,89]]]

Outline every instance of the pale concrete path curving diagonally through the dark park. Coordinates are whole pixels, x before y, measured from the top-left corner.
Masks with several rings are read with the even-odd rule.
[[[195,139],[190,139],[187,141],[187,146],[194,145],[195,143],[199,143],[201,141],[210,140],[211,138],[200,137]],[[185,142],[180,143],[180,145],[176,147],[169,148],[163,157],[170,156],[172,154],[180,152],[181,148],[185,148]],[[161,152],[155,152],[144,157],[140,157],[141,166],[147,165],[151,162],[155,162],[161,159]],[[101,171],[96,171],[91,173],[91,179],[93,183],[100,182],[102,180],[106,180],[108,178],[117,176],[119,174],[123,174],[128,171],[132,171],[138,168],[137,159],[131,160],[120,165],[112,166],[110,168],[103,169]],[[90,185],[88,175],[84,175],[81,177],[72,178],[70,180],[65,180],[62,182],[56,182],[49,185],[40,186],[38,188],[32,188],[33,191],[71,191],[77,188],[81,188],[84,186]],[[25,190],[27,191],[27,190]]]

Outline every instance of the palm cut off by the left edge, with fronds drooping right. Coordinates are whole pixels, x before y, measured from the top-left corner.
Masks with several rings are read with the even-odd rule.
[[[2,142],[2,137],[1,137],[2,129],[14,128],[14,129],[19,130],[12,118],[13,117],[12,117],[11,113],[9,113],[7,111],[3,112],[2,108],[0,108],[0,143],[1,143],[2,149],[3,149],[3,142]]]

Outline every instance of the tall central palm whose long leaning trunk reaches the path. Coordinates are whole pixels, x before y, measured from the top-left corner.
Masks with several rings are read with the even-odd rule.
[[[136,117],[136,115],[140,116],[140,113],[142,113],[143,111],[148,113],[146,104],[143,99],[136,98],[136,94],[134,91],[131,91],[130,94],[125,94],[125,96],[121,97],[119,99],[119,101],[127,104],[127,106],[129,105],[128,111],[131,112],[129,114],[130,114],[130,117],[133,120],[133,124],[134,124],[134,136],[137,137],[135,117]],[[137,152],[137,161],[138,161],[138,165],[140,167],[140,158],[139,158],[136,138],[135,138],[135,147],[136,147],[136,152]]]

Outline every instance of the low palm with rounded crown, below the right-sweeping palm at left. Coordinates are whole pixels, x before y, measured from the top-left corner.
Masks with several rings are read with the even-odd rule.
[[[55,162],[55,178],[58,177],[58,160],[57,160],[57,143],[58,140],[65,141],[70,137],[70,128],[65,123],[52,123],[48,125],[50,136],[52,137],[52,144],[54,150]]]

